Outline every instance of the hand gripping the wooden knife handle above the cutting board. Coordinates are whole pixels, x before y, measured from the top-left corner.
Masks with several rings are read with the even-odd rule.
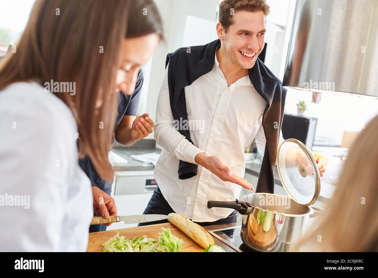
[[[105,219],[110,216],[117,215],[115,200],[96,186],[92,186],[93,194],[93,210],[96,214],[101,215]],[[110,226],[112,223],[105,224]]]

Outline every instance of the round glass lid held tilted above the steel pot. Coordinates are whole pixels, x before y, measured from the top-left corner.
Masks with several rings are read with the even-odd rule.
[[[287,194],[302,205],[312,205],[319,198],[320,173],[305,144],[290,138],[277,152],[277,169]]]

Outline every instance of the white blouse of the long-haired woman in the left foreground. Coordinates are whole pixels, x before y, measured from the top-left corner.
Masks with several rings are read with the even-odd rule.
[[[93,217],[77,125],[36,82],[0,91],[0,251],[79,251]]]

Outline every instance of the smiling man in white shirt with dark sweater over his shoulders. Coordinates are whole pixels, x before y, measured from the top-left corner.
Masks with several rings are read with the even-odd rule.
[[[241,177],[244,149],[254,138],[263,155],[257,192],[273,193],[286,89],[258,58],[269,6],[225,0],[219,7],[218,40],[167,55],[154,128],[164,149],[145,214],[175,212],[200,225],[235,222],[235,210],[208,209],[207,202],[235,200],[241,186],[253,189]],[[184,120],[204,120],[202,132],[174,128]],[[314,156],[324,172],[327,159]]]

